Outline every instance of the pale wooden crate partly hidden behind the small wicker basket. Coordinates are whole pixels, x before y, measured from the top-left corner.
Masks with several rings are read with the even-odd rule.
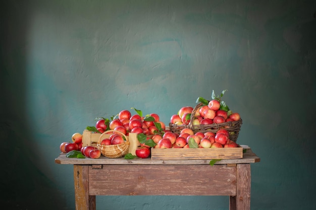
[[[83,130],[82,133],[82,147],[85,146],[94,146],[96,147],[97,142],[99,141],[101,133],[95,133],[89,130]],[[110,137],[111,134],[104,134],[104,137]],[[137,133],[129,133],[128,141],[130,142],[128,153],[135,155],[135,151],[137,148]]]

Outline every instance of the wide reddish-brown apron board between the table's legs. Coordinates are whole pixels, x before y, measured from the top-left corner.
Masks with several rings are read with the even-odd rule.
[[[89,168],[90,195],[236,195],[236,167],[103,165]]]

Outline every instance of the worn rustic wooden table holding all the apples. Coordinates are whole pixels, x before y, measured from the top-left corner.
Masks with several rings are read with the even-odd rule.
[[[95,195],[226,195],[229,209],[250,209],[250,163],[260,161],[251,149],[242,159],[151,160],[66,158],[74,166],[76,210],[95,210]]]

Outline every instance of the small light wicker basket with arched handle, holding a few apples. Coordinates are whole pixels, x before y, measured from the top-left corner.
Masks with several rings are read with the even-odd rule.
[[[117,132],[123,135],[126,141],[120,145],[101,145],[100,143],[104,139],[104,135],[110,132],[113,132],[113,133]],[[96,148],[101,151],[101,154],[103,156],[106,156],[108,158],[120,158],[128,153],[129,145],[130,143],[129,143],[128,137],[124,133],[117,130],[107,130],[100,135]]]

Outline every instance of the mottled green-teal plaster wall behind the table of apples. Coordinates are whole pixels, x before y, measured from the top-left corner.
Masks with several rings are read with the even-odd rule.
[[[2,1],[2,209],[74,209],[61,142],[135,107],[197,97],[243,119],[251,209],[315,209],[314,1]],[[228,209],[222,196],[99,196],[97,209]]]

